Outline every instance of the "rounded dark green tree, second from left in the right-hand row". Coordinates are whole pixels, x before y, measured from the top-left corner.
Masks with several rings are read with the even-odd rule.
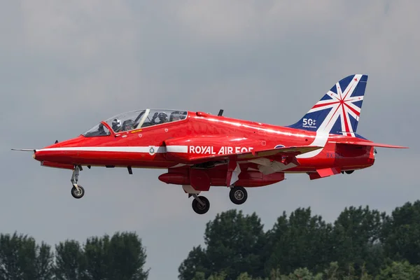
[[[330,260],[331,232],[332,225],[311,216],[310,207],[296,209],[289,218],[283,212],[267,232],[265,272],[278,268],[288,274],[299,267],[321,271]]]

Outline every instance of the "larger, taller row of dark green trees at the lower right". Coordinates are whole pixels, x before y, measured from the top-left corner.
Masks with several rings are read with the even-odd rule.
[[[179,279],[420,279],[420,201],[391,215],[345,208],[334,223],[298,208],[267,232],[255,213],[231,210],[207,223],[204,244]]]

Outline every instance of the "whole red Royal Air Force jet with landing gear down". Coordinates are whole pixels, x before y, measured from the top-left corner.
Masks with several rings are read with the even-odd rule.
[[[356,134],[367,75],[339,80],[294,125],[286,127],[238,120],[204,112],[145,109],[104,120],[74,139],[34,151],[44,167],[73,170],[71,195],[83,197],[78,185],[82,167],[167,169],[160,181],[181,185],[193,196],[197,214],[209,211],[198,196],[210,186],[230,188],[230,200],[242,204],[245,188],[283,181],[297,172],[320,179],[374,164],[378,144]],[[15,150],[15,149],[13,149]]]

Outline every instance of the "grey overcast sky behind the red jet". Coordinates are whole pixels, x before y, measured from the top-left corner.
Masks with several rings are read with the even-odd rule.
[[[137,231],[150,280],[176,279],[217,213],[255,211],[266,229],[311,207],[334,221],[344,207],[387,211],[420,198],[419,1],[0,1],[0,231],[56,244]],[[409,146],[377,148],[369,169],[248,190],[236,206],[211,188],[203,216],[165,170],[39,166],[31,153],[117,113],[169,108],[276,125],[299,120],[337,80],[369,75],[358,133]]]

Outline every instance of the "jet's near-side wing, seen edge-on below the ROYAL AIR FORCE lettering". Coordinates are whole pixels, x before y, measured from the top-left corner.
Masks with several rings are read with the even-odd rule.
[[[200,163],[200,162],[209,162],[209,161],[219,161],[219,160],[256,160],[259,158],[272,158],[274,156],[292,156],[301,155],[303,153],[309,153],[311,151],[318,150],[323,148],[321,146],[290,146],[282,148],[272,148],[259,151],[251,151],[245,153],[232,153],[225,155],[202,155],[190,158],[190,163]]]

